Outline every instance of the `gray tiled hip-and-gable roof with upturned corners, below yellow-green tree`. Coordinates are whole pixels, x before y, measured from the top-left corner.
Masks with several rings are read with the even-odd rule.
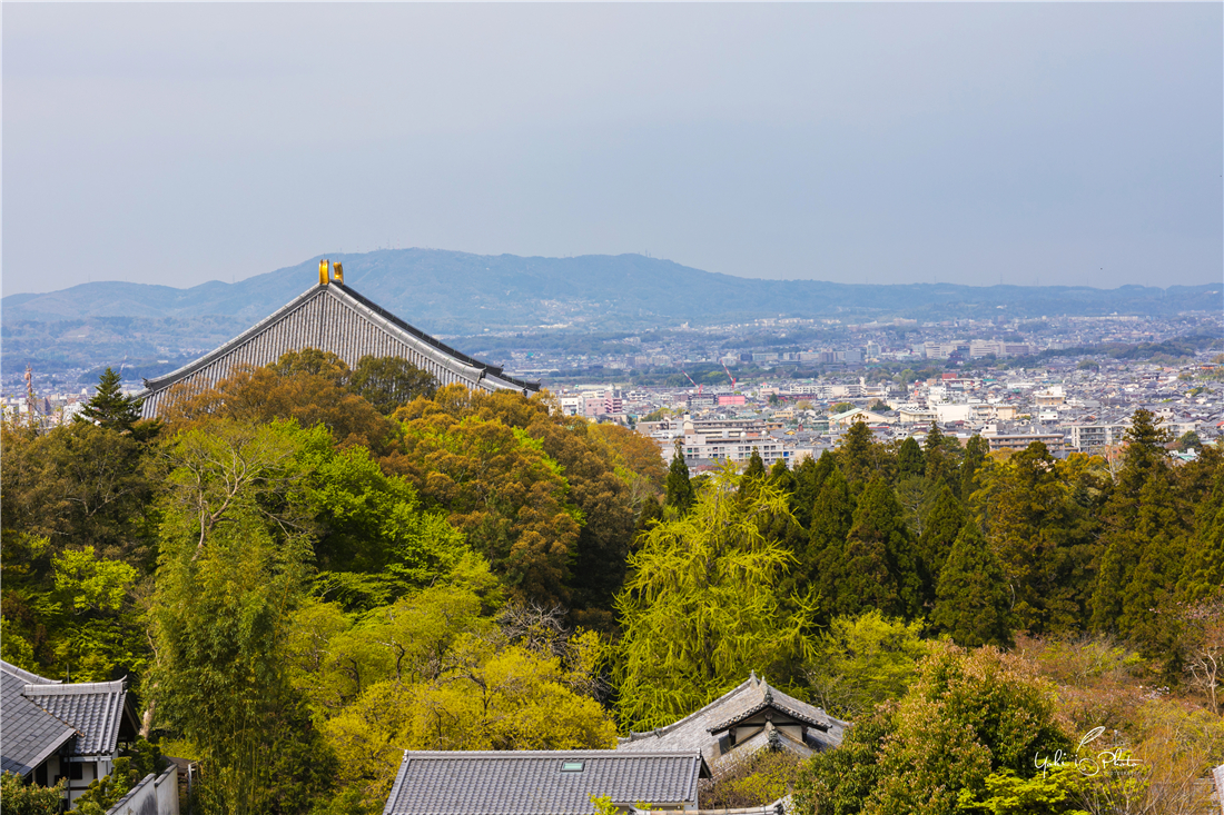
[[[711,765],[720,757],[717,733],[767,707],[787,713],[796,720],[814,724],[810,738],[820,749],[841,744],[848,722],[834,718],[820,707],[814,707],[789,694],[771,687],[753,674],[739,685],[699,711],[678,722],[649,733],[632,733],[622,738],[618,750],[700,750]]]

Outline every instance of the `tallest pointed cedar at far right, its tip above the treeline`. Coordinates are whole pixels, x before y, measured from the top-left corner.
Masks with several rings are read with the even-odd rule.
[[[1159,651],[1155,609],[1181,576],[1186,524],[1164,444],[1170,434],[1136,410],[1126,450],[1104,509],[1104,552],[1092,596],[1092,625]],[[1162,585],[1165,584],[1165,585]]]

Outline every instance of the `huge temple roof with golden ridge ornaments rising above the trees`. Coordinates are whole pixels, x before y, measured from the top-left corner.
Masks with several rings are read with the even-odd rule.
[[[523,394],[540,389],[537,382],[507,376],[502,368],[474,360],[409,326],[344,285],[339,263],[319,261],[318,285],[215,351],[177,371],[146,379],[146,390],[140,394],[144,400],[142,412],[146,419],[157,416],[177,384],[211,387],[237,365],[271,365],[286,351],[306,348],[330,351],[350,367],[366,355],[399,356],[432,373],[442,385],[459,383]]]

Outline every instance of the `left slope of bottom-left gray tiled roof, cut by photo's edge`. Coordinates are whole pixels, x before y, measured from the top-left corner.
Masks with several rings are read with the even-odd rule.
[[[55,687],[50,679],[0,662],[0,770],[24,776],[76,735],[76,731],[29,701],[31,684]]]

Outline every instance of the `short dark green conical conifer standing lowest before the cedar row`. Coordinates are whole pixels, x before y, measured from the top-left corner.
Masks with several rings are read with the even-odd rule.
[[[966,524],[939,575],[931,622],[965,647],[1009,646],[1010,602],[999,558],[977,524]]]

